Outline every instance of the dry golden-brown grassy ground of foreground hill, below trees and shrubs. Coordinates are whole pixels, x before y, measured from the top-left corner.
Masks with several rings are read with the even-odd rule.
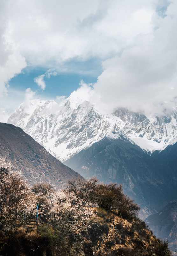
[[[54,244],[58,237],[51,226],[39,227],[38,234],[21,232],[13,237],[9,252],[23,256],[169,256],[168,245],[157,239],[140,220],[129,222],[101,208],[90,209],[89,228],[81,237],[63,241],[60,252]],[[13,245],[15,244],[15,247]],[[7,249],[6,249],[7,250]],[[7,252],[7,251],[6,251]],[[3,254],[4,255],[4,254]],[[7,254],[11,255],[11,254]]]

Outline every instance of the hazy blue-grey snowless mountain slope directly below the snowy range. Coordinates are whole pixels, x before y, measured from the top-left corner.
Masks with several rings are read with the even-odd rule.
[[[141,207],[157,210],[176,196],[171,170],[123,136],[118,139],[105,137],[65,164],[84,178],[96,176],[104,183],[123,184],[125,193]]]

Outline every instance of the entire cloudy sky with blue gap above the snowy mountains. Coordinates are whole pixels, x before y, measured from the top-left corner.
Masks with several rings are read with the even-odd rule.
[[[25,100],[74,90],[103,113],[170,113],[176,31],[176,1],[1,0],[1,121]]]

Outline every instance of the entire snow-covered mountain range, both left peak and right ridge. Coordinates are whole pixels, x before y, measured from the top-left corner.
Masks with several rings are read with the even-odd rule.
[[[123,132],[132,143],[150,152],[177,141],[176,109],[171,116],[155,118],[125,108],[103,115],[76,92],[60,104],[53,100],[22,103],[8,123],[21,127],[60,161],[89,148],[111,132]]]

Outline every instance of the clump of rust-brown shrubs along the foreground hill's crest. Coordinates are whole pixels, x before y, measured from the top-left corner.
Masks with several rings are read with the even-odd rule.
[[[65,193],[74,193],[75,196],[84,200],[85,204],[97,204],[100,208],[110,211],[116,210],[127,220],[137,217],[139,206],[128,196],[124,195],[122,185],[97,184],[98,180],[71,180],[68,182]]]

